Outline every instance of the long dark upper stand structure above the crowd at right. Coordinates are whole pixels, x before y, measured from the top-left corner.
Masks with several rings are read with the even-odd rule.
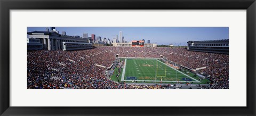
[[[229,54],[229,39],[189,41],[188,51]]]

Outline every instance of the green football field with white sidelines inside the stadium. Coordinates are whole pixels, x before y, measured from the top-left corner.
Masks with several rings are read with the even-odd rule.
[[[194,74],[183,73],[157,59],[125,59],[121,81],[139,82],[197,82]]]

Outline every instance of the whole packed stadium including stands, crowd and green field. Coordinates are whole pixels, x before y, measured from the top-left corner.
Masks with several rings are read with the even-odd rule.
[[[209,47],[189,41],[186,48],[143,47],[143,43],[95,47],[68,40],[50,40],[61,43],[47,45],[47,41],[34,39],[28,39],[29,48],[37,48],[27,52],[28,89],[229,88],[228,44],[207,44]],[[228,39],[208,43],[217,42],[227,43]],[[189,49],[194,46],[201,51]]]

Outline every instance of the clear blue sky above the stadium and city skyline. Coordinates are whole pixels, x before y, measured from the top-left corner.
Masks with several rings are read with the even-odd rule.
[[[27,31],[45,31],[50,27],[28,27]],[[229,39],[228,27],[55,27],[61,34],[66,31],[66,35],[81,36],[88,33],[88,36],[96,36],[113,39],[119,31],[123,32],[124,39],[131,40],[150,39],[150,43],[157,45],[187,45],[189,40],[217,40]]]

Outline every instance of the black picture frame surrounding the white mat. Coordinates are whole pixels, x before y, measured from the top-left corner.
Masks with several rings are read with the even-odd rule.
[[[255,0],[0,0],[1,115],[255,115]],[[246,107],[10,107],[10,10],[72,9],[217,9],[247,11]],[[239,23],[239,22],[237,22]],[[236,101],[234,101],[236,102]]]

